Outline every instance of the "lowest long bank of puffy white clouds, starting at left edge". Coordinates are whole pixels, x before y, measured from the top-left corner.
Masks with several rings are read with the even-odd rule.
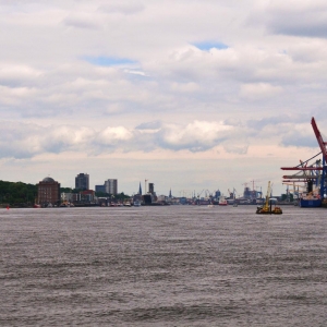
[[[4,123],[4,122],[3,122]],[[221,122],[194,121],[185,125],[158,121],[135,129],[107,126],[95,131],[86,126],[4,123],[0,141],[2,157],[31,158],[41,153],[59,154],[83,150],[89,154],[107,152],[155,150],[156,148],[204,152],[215,147],[232,130]]]

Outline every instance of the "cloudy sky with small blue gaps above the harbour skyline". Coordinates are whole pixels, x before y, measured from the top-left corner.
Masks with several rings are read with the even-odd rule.
[[[0,0],[0,180],[286,191],[327,134],[327,2]],[[327,140],[327,137],[325,138]]]

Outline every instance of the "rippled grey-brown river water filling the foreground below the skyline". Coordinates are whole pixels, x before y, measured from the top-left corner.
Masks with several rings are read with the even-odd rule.
[[[326,209],[0,210],[0,326],[326,326]]]

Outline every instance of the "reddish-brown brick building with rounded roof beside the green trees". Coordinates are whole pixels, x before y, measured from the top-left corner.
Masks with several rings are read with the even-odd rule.
[[[57,205],[60,203],[60,183],[50,177],[37,184],[37,203],[41,206]]]

